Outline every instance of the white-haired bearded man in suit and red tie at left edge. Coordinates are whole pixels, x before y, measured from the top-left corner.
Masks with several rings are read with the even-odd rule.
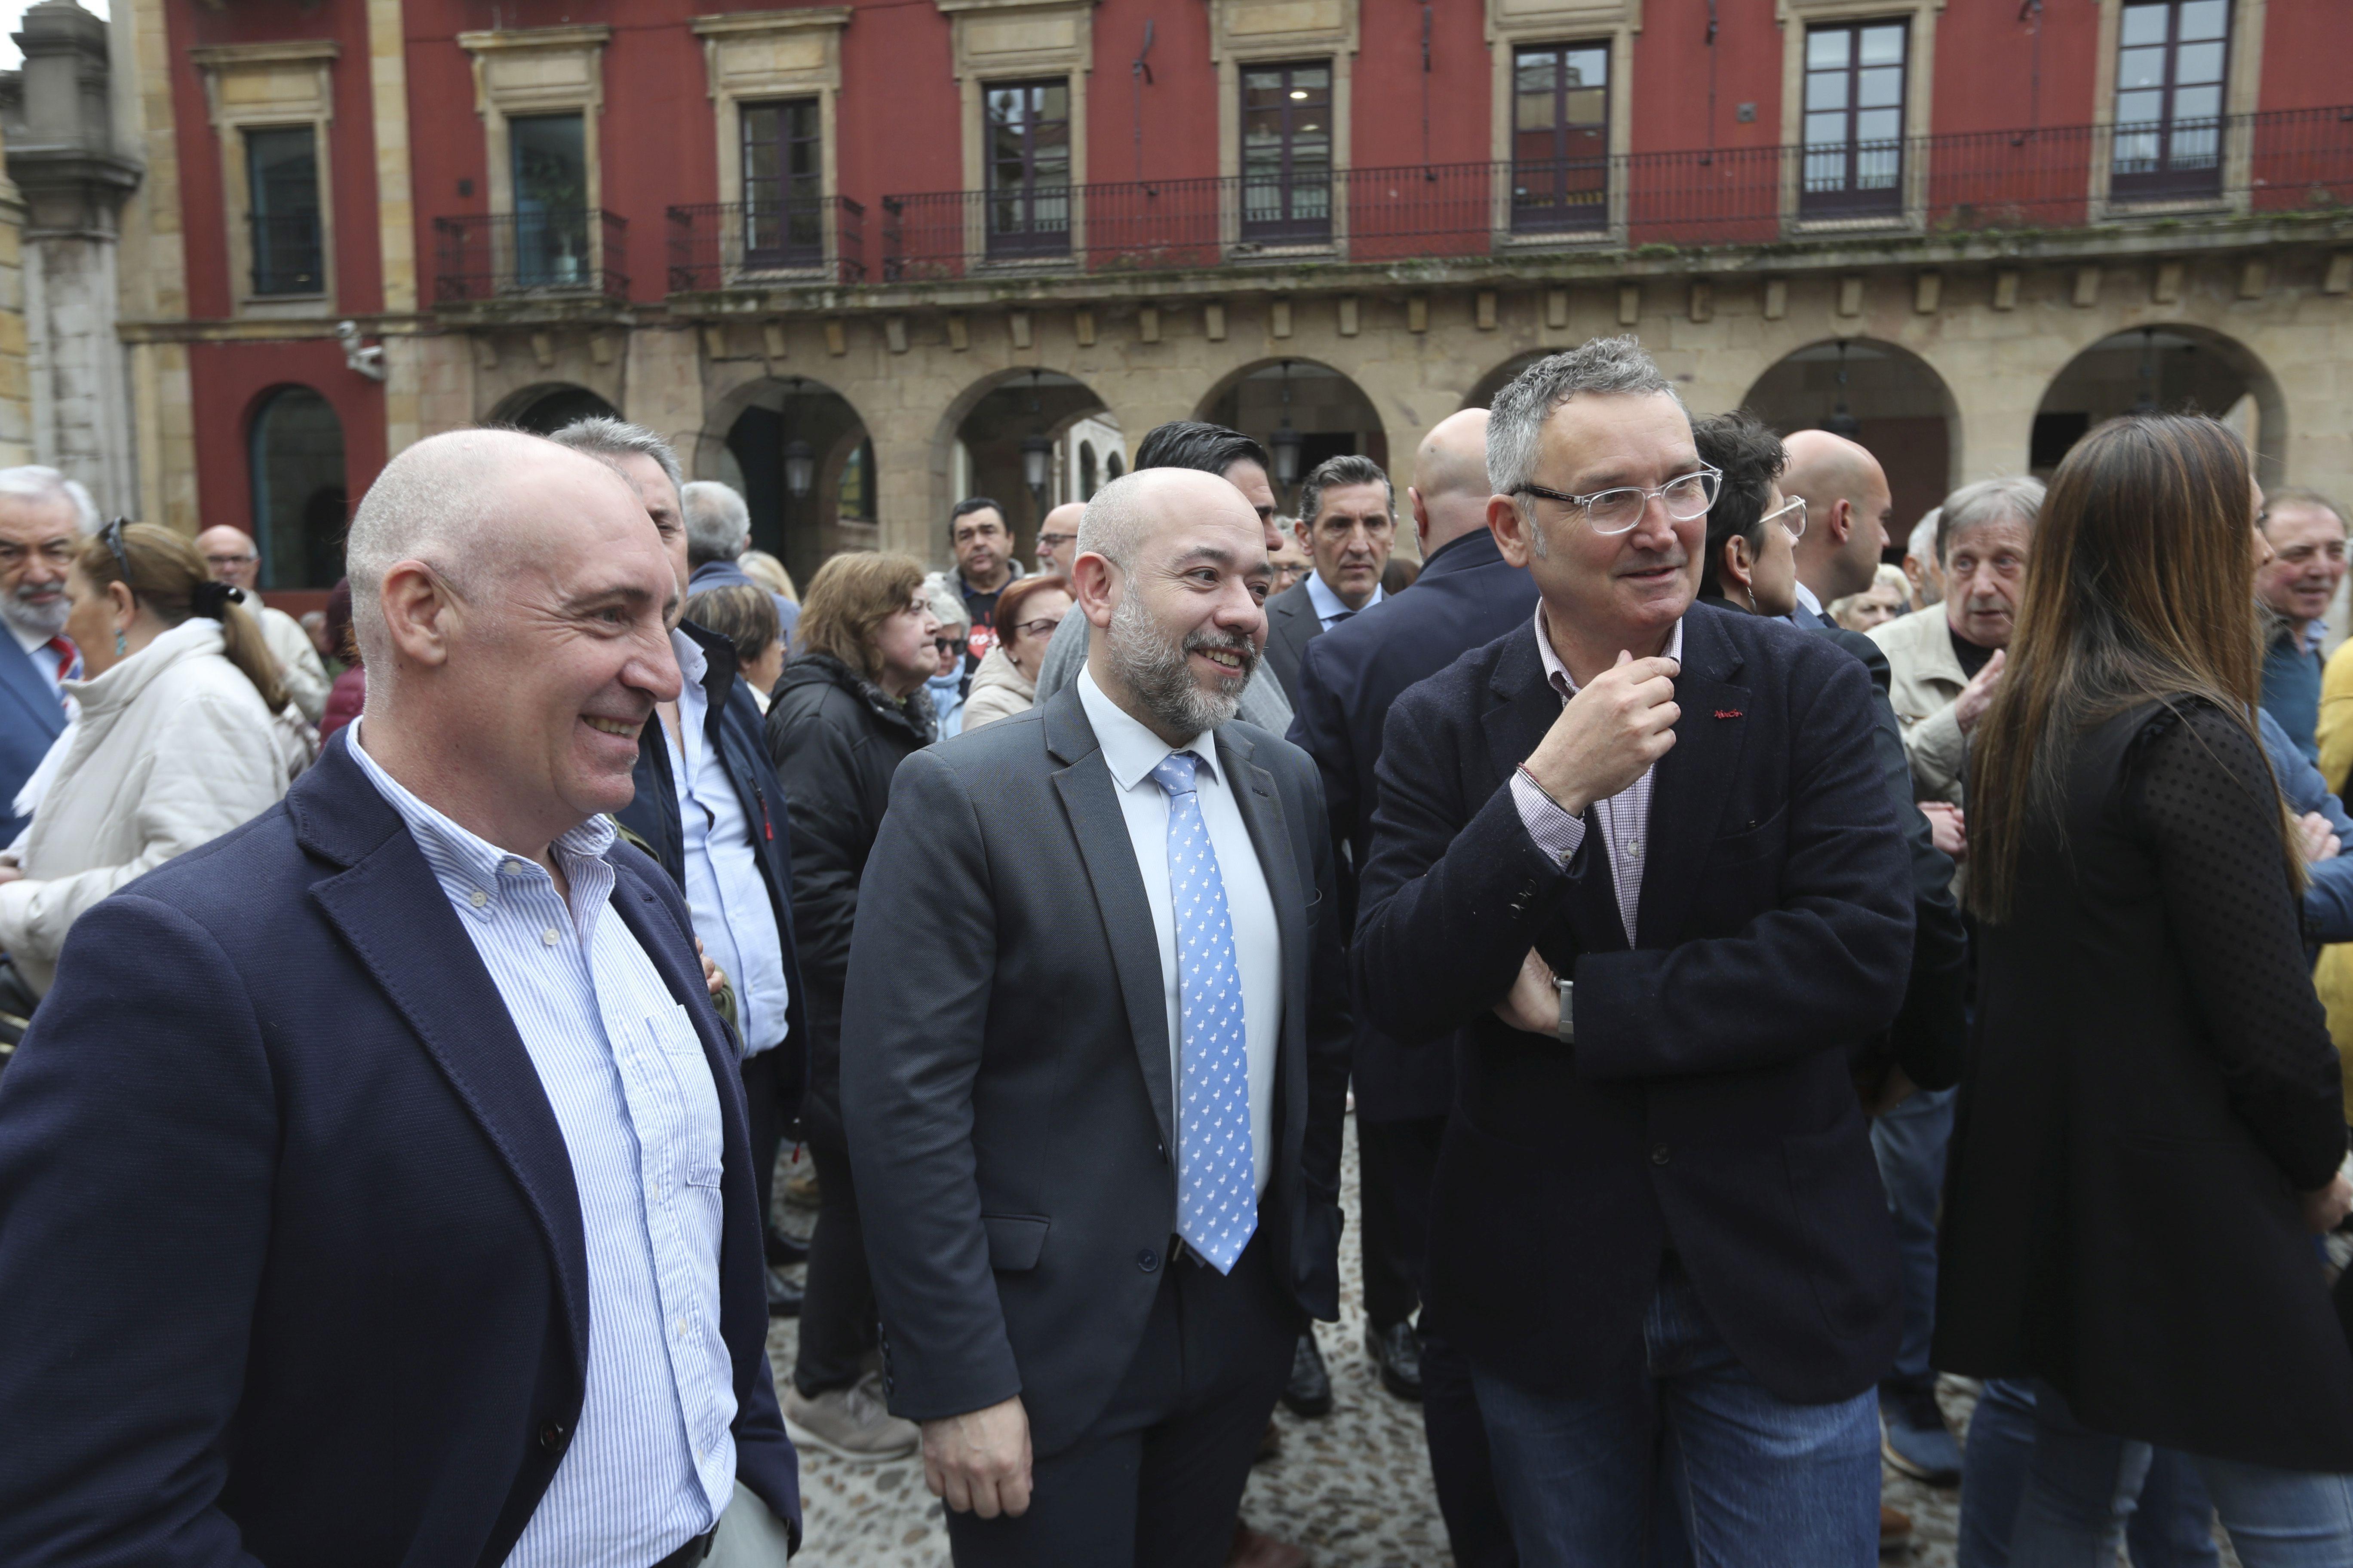
[[[54,468],[0,470],[0,844],[24,832],[14,799],[66,729],[59,682],[82,677],[66,639],[66,569],[99,527],[89,491]]]

